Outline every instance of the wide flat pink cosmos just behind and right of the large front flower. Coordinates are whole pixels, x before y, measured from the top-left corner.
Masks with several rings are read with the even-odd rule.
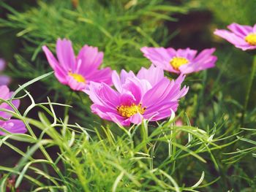
[[[199,72],[215,66],[217,57],[211,55],[215,48],[205,49],[197,56],[197,50],[189,48],[174,50],[164,47],[142,47],[140,49],[152,64],[176,74]]]

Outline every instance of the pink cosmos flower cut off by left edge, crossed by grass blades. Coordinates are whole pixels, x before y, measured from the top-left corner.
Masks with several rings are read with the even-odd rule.
[[[9,131],[13,134],[23,134],[26,133],[26,126],[22,120],[11,119],[12,115],[9,112],[4,112],[2,110],[12,110],[9,104],[4,103],[1,99],[7,100],[12,96],[12,92],[9,91],[6,85],[0,86],[0,117],[7,120],[0,120],[0,127]],[[18,108],[20,105],[20,100],[12,101],[12,104]],[[3,131],[0,131],[0,135],[5,135]]]

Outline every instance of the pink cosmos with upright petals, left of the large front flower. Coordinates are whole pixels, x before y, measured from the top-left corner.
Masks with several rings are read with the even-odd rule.
[[[69,85],[72,90],[82,91],[90,82],[105,82],[111,84],[111,69],[98,69],[102,64],[103,53],[97,47],[84,45],[78,56],[75,57],[72,42],[67,39],[58,39],[56,55],[58,61],[48,50],[42,46],[50,66],[55,71],[55,76],[64,85]]]

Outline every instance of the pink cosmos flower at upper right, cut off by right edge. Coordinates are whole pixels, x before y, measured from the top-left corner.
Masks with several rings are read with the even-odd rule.
[[[241,50],[256,49],[256,24],[255,26],[241,26],[237,23],[232,23],[227,26],[230,31],[216,29],[214,34],[235,45]]]

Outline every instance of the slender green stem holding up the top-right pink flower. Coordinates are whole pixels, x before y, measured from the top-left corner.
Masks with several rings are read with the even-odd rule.
[[[246,96],[245,96],[245,100],[244,100],[244,109],[241,115],[241,126],[244,126],[244,116],[248,107],[248,101],[249,101],[249,95],[251,93],[252,90],[252,82],[254,80],[255,77],[255,71],[256,71],[256,55],[253,58],[253,63],[252,63],[252,70],[251,70],[251,74],[249,77],[249,83],[248,83],[248,87],[246,90]]]

